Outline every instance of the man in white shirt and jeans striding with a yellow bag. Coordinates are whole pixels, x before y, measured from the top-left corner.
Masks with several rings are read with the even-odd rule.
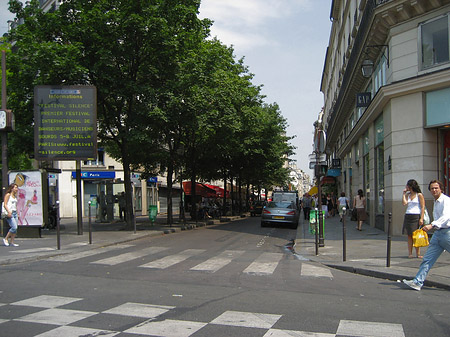
[[[434,198],[434,221],[429,225],[423,226],[422,229],[428,232],[434,228],[435,232],[416,277],[412,280],[403,280],[403,283],[414,290],[422,288],[428,272],[442,252],[444,250],[450,252],[450,198],[443,193],[444,185],[439,180],[431,181],[428,189]]]

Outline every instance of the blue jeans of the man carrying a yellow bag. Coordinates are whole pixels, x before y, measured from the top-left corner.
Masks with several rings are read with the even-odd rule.
[[[444,250],[450,252],[450,228],[443,228],[434,232],[414,282],[423,286],[428,272]]]

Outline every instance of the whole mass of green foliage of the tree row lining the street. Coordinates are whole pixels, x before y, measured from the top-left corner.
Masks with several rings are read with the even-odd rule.
[[[9,36],[11,155],[33,152],[34,86],[89,84],[99,141],[125,173],[287,182],[286,120],[233,49],[208,39],[200,1],[66,0],[51,13],[37,0],[9,5],[24,22]]]

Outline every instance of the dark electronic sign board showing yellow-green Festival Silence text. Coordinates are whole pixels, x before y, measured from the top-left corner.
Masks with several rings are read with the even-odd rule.
[[[97,90],[94,86],[36,86],[34,123],[36,159],[97,158]]]

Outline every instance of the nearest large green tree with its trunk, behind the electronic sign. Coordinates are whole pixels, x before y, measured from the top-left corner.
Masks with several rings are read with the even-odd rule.
[[[17,96],[29,97],[31,105],[37,84],[97,87],[99,140],[123,165],[129,226],[131,167],[140,165],[135,158],[142,149],[161,148],[164,135],[152,121],[170,96],[166,86],[175,79],[184,48],[208,33],[209,21],[197,18],[198,7],[195,0],[67,0],[58,11],[42,13],[37,1],[22,7],[10,0],[24,19],[11,34],[18,52],[14,75],[23,74],[17,83],[27,84]]]

